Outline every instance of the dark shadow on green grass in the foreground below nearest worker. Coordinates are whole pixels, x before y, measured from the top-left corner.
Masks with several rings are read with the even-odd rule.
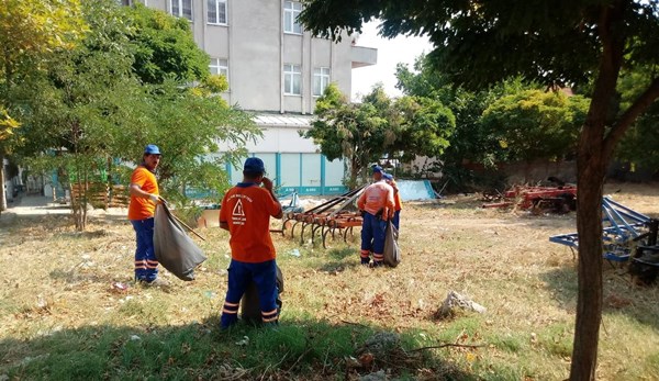
[[[183,326],[83,326],[27,340],[0,340],[8,379],[327,380],[379,370],[390,377],[476,380],[432,351],[415,351],[412,334],[300,318],[276,328],[217,317]]]

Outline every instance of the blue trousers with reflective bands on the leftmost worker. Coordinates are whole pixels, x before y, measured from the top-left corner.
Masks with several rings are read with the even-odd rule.
[[[135,229],[135,280],[153,282],[158,277],[158,260],[154,250],[154,218],[131,220]]]

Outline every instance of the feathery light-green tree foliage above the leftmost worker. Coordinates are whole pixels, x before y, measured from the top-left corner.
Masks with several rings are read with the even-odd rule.
[[[201,68],[208,72],[206,64],[188,59],[204,56],[191,33],[178,27],[178,40],[171,40],[172,31],[154,27],[132,40],[135,32],[126,14],[129,21],[159,20],[168,27],[178,21],[141,7],[126,10],[111,0],[86,2],[83,11],[90,31],[80,45],[54,54],[47,71],[16,91],[24,100],[21,112],[26,121],[21,155],[33,169],[57,169],[64,179],[85,183],[107,170],[111,181],[127,184],[142,149],[155,143],[165,153],[158,177],[170,201],[185,203],[187,187],[224,190],[225,159],[244,154],[241,147],[260,132],[250,115],[214,96],[226,89],[225,78],[201,76]],[[131,12],[136,14],[133,19]],[[159,68],[157,80],[149,79],[157,83],[145,83],[135,72],[141,58],[135,52],[141,44],[147,48],[160,40],[176,42],[179,48],[168,52],[185,57],[176,67]],[[196,53],[186,51],[191,46]],[[199,86],[185,83],[194,78],[202,78]],[[237,148],[220,155],[217,144],[223,141]],[[85,202],[74,204],[85,209]],[[83,225],[80,221],[79,227]]]

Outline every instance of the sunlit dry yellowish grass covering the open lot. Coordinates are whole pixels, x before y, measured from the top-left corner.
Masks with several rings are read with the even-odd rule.
[[[624,183],[605,191],[659,216],[658,189]],[[411,347],[484,345],[424,351],[488,380],[566,379],[576,262],[567,247],[548,237],[573,232],[574,215],[534,216],[479,205],[476,197],[463,195],[404,204],[404,256],[395,269],[358,266],[358,243],[335,243],[324,250],[277,236],[286,278],[282,322],[393,330],[404,333]],[[86,234],[74,233],[71,221],[63,216],[9,221],[7,215],[0,220],[0,345],[5,348],[0,350],[0,373],[33,357],[34,343],[57,332],[110,326],[141,335],[196,322],[215,329],[228,264],[224,232],[201,231],[209,260],[194,282],[163,271],[174,284],[169,292],[139,287],[116,292],[113,282],[132,278],[134,250],[132,227],[122,216],[93,218]],[[301,256],[290,255],[293,249]],[[605,265],[599,379],[659,379],[659,292],[657,287],[633,287],[623,272]],[[488,312],[434,321],[450,290]],[[415,374],[423,378],[425,372],[417,369]]]

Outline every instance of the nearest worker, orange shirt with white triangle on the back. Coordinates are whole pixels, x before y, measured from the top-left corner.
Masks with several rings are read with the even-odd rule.
[[[243,182],[230,189],[222,199],[220,227],[231,234],[228,289],[222,309],[222,329],[238,321],[241,299],[253,281],[258,291],[261,321],[276,324],[279,320],[270,216],[281,218],[283,212],[272,191],[272,181],[264,176],[265,172],[261,159],[248,158],[243,167]],[[259,187],[261,183],[263,188]]]

